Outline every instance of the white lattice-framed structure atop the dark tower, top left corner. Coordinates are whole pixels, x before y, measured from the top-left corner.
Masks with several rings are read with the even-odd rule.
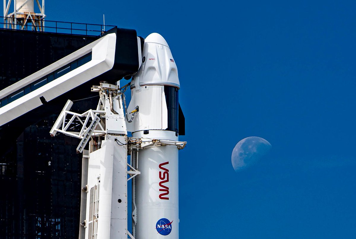
[[[35,0],[14,0],[14,11],[9,13],[12,0],[4,0],[4,28],[43,31],[45,0],[36,0],[40,13],[35,13]],[[7,2],[7,3],[6,3]]]

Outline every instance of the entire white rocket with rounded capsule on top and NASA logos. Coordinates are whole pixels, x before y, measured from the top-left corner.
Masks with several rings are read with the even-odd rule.
[[[128,131],[133,138],[159,139],[159,147],[139,150],[141,175],[132,182],[132,228],[137,239],[179,238],[178,150],[174,144],[184,135],[179,106],[180,88],[176,62],[166,40],[158,33],[145,39],[142,65],[131,81],[127,109],[138,113]],[[131,160],[133,160],[131,158]]]

